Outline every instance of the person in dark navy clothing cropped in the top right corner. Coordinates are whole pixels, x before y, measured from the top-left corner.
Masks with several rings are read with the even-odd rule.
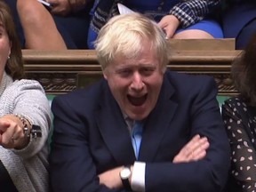
[[[256,1],[226,0],[222,23],[224,37],[236,38],[236,49],[244,49],[256,32]]]

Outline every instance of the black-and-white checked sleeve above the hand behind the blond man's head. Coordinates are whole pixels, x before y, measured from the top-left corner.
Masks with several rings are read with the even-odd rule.
[[[212,12],[220,4],[220,0],[183,0],[172,7],[170,14],[180,20],[182,28],[188,28],[203,20],[205,15]]]

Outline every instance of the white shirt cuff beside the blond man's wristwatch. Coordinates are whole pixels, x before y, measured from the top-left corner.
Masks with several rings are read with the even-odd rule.
[[[146,163],[135,162],[132,169],[131,187],[133,191],[145,191]]]

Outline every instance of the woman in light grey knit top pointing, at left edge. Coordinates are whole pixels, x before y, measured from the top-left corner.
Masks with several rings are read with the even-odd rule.
[[[4,1],[0,34],[0,190],[48,191],[51,110],[43,87],[22,79],[20,42]]]

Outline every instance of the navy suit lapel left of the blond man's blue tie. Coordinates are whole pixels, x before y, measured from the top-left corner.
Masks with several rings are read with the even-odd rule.
[[[130,132],[124,121],[124,116],[110,90],[105,86],[96,113],[96,122],[109,151],[117,164],[132,164],[135,160]]]

